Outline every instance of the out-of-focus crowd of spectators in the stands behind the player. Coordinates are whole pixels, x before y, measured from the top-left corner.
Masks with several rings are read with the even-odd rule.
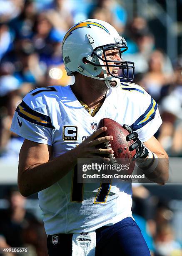
[[[125,37],[129,50],[123,59],[135,62],[134,83],[159,104],[163,123],[155,136],[169,156],[182,156],[182,55],[171,60],[158,49],[145,18],[130,19],[117,0],[0,0],[0,6],[1,161],[18,158],[23,138],[10,132],[10,125],[22,97],[35,87],[74,82],[64,69],[61,42],[73,24],[86,18],[105,20]],[[161,205],[143,186],[133,191],[135,219],[153,255],[182,255],[169,205]],[[30,255],[46,255],[42,223],[26,212],[25,198],[11,191],[7,200],[7,212],[0,212],[6,216],[0,218],[0,247],[29,244]]]

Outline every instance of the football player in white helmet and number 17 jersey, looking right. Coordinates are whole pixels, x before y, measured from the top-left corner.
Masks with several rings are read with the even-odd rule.
[[[102,20],[84,20],[67,31],[62,56],[75,83],[30,91],[15,111],[11,131],[25,138],[20,150],[18,186],[25,197],[38,193],[50,256],[150,256],[132,218],[131,182],[77,183],[77,159],[113,154],[99,148],[112,136],[97,138],[102,118],[129,131],[130,151],[146,177],[159,184],[167,154],[153,134],[162,120],[155,100],[137,84],[134,63],[122,60],[127,43]],[[120,82],[122,81],[126,82]],[[126,125],[127,124],[127,125]],[[150,161],[147,161],[150,159]]]

